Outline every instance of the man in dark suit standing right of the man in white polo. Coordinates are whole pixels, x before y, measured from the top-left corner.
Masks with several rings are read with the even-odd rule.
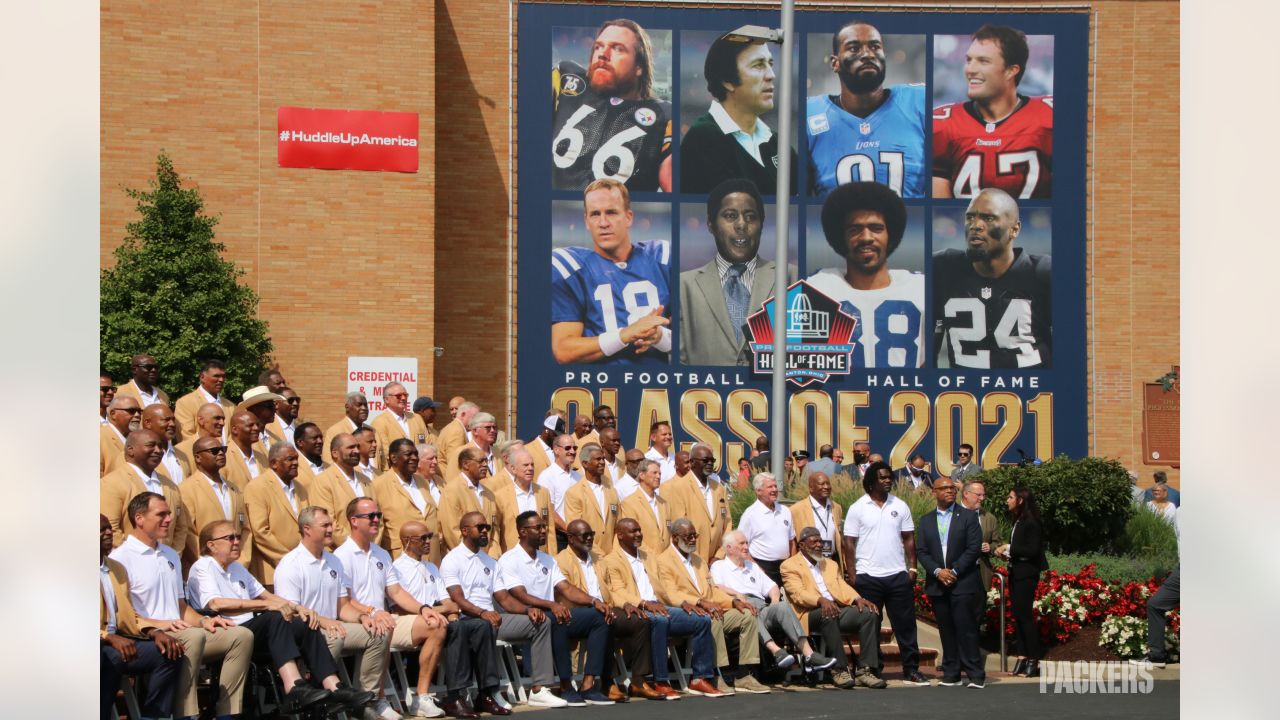
[[[956,486],[950,478],[933,482],[936,512],[925,512],[916,528],[916,557],[924,566],[924,594],[942,637],[942,684],[959,685],[960,669],[969,687],[982,689],[987,673],[978,650],[978,624],[973,606],[982,597],[978,553],[982,530],[978,516],[956,503]]]

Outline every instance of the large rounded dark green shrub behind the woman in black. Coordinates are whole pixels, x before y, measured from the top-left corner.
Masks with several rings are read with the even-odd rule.
[[[1134,512],[1129,473],[1115,460],[1060,455],[1038,466],[983,470],[982,479],[986,507],[997,518],[1009,516],[1005,498],[1014,486],[1030,488],[1055,552],[1115,551]]]

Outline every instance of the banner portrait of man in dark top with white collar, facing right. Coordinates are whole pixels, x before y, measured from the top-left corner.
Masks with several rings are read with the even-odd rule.
[[[680,33],[680,191],[707,193],[730,178],[746,178],[762,195],[777,195],[778,99],[771,46],[732,33]],[[794,141],[792,141],[794,142]],[[796,192],[791,147],[791,193]]]

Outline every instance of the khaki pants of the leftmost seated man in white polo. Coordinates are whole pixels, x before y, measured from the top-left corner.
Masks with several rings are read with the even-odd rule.
[[[253,633],[247,628],[219,628],[215,633],[204,628],[187,628],[169,634],[186,650],[174,696],[178,701],[177,715],[200,715],[200,703],[196,701],[200,666],[218,660],[223,661],[223,669],[218,674],[215,715],[238,715],[244,696],[244,675],[253,655]]]

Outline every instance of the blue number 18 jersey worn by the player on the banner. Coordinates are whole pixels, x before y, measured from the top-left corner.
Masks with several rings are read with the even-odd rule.
[[[552,251],[552,324],[582,323],[582,337],[618,332],[650,314],[659,305],[671,316],[668,275],[671,242],[636,241],[622,263],[600,256],[591,247],[558,247]],[[645,352],[626,346],[600,363],[666,363],[671,332],[664,342]]]

